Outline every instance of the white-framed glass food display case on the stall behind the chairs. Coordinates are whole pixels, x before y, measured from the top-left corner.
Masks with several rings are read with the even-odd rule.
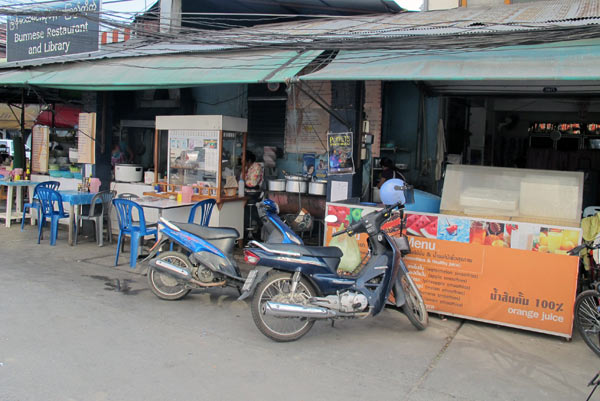
[[[157,116],[156,122],[157,135],[160,132],[168,137],[169,188],[193,187],[195,194],[218,199],[237,196],[237,182],[245,163],[246,119]],[[160,155],[155,154],[155,158]]]

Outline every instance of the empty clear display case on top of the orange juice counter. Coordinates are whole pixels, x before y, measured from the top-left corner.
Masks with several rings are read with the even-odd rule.
[[[582,172],[448,165],[440,210],[578,227],[582,200]]]

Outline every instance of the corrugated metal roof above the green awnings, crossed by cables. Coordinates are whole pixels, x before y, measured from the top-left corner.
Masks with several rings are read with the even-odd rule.
[[[455,8],[442,11],[374,14],[353,17],[315,19],[281,24],[261,25],[228,31],[203,31],[181,34],[164,42],[144,42],[132,38],[123,43],[102,46],[89,54],[5,63],[0,68],[36,66],[79,60],[139,57],[173,53],[219,52],[232,49],[266,49],[272,47],[298,49],[402,48],[415,43],[422,48],[434,47],[435,40],[453,35],[495,35],[488,47],[511,43],[501,33],[553,30],[555,38],[539,36],[539,40],[570,40],[570,32],[600,25],[600,0],[550,0],[494,7]],[[575,28],[575,29],[574,29]],[[587,36],[600,32],[586,32]],[[484,36],[481,36],[484,37]],[[400,41],[394,39],[405,38]],[[535,38],[534,38],[535,39]],[[429,42],[426,42],[428,40]],[[517,42],[513,42],[517,43]],[[445,43],[438,45],[444,48]],[[468,43],[466,44],[468,46]]]

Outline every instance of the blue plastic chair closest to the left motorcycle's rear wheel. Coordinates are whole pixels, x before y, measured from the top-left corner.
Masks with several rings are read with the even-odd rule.
[[[156,237],[157,230],[155,227],[149,228],[146,226],[146,218],[144,217],[144,209],[137,203],[128,199],[113,199],[113,205],[117,211],[117,219],[119,221],[119,240],[117,242],[117,257],[115,266],[119,264],[119,253],[124,244],[123,235],[131,237],[129,266],[134,268],[137,263],[137,258],[140,253],[141,241],[146,235],[154,235]],[[137,211],[139,221],[133,220],[133,212]]]

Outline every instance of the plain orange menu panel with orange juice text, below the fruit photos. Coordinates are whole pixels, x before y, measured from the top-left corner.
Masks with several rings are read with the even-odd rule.
[[[408,238],[405,263],[430,311],[571,336],[576,256]]]

